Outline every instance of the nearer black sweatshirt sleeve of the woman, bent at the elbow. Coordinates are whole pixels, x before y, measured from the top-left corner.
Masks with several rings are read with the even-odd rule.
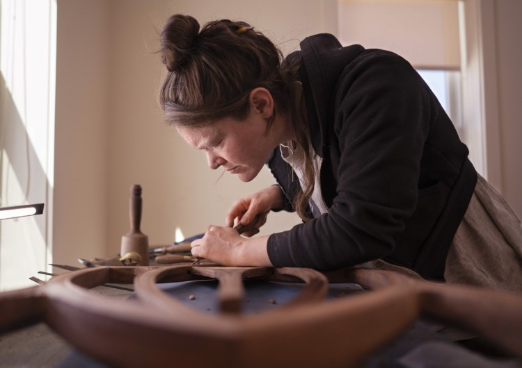
[[[422,151],[441,107],[415,69],[368,50],[342,72],[331,106],[324,159],[338,159],[337,194],[328,213],[270,235],[276,267],[338,269],[385,257],[416,208]]]

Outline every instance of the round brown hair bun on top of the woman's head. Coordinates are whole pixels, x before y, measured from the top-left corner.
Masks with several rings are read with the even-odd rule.
[[[200,25],[190,15],[176,14],[168,18],[161,31],[161,62],[169,72],[180,69],[193,50]]]

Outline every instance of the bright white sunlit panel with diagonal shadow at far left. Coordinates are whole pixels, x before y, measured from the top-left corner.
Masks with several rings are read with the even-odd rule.
[[[0,2],[0,206],[45,203],[0,221],[0,290],[34,285],[51,261],[56,1]]]

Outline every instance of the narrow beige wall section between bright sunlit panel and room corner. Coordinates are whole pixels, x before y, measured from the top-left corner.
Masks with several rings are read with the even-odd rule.
[[[58,0],[53,262],[106,253],[110,2]]]

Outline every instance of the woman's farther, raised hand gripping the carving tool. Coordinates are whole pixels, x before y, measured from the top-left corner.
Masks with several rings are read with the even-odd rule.
[[[235,201],[226,215],[226,224],[232,227],[236,222],[249,226],[250,229],[245,231],[243,235],[251,237],[259,233],[260,227],[267,222],[270,210],[282,207],[283,192],[278,185],[271,185]]]

